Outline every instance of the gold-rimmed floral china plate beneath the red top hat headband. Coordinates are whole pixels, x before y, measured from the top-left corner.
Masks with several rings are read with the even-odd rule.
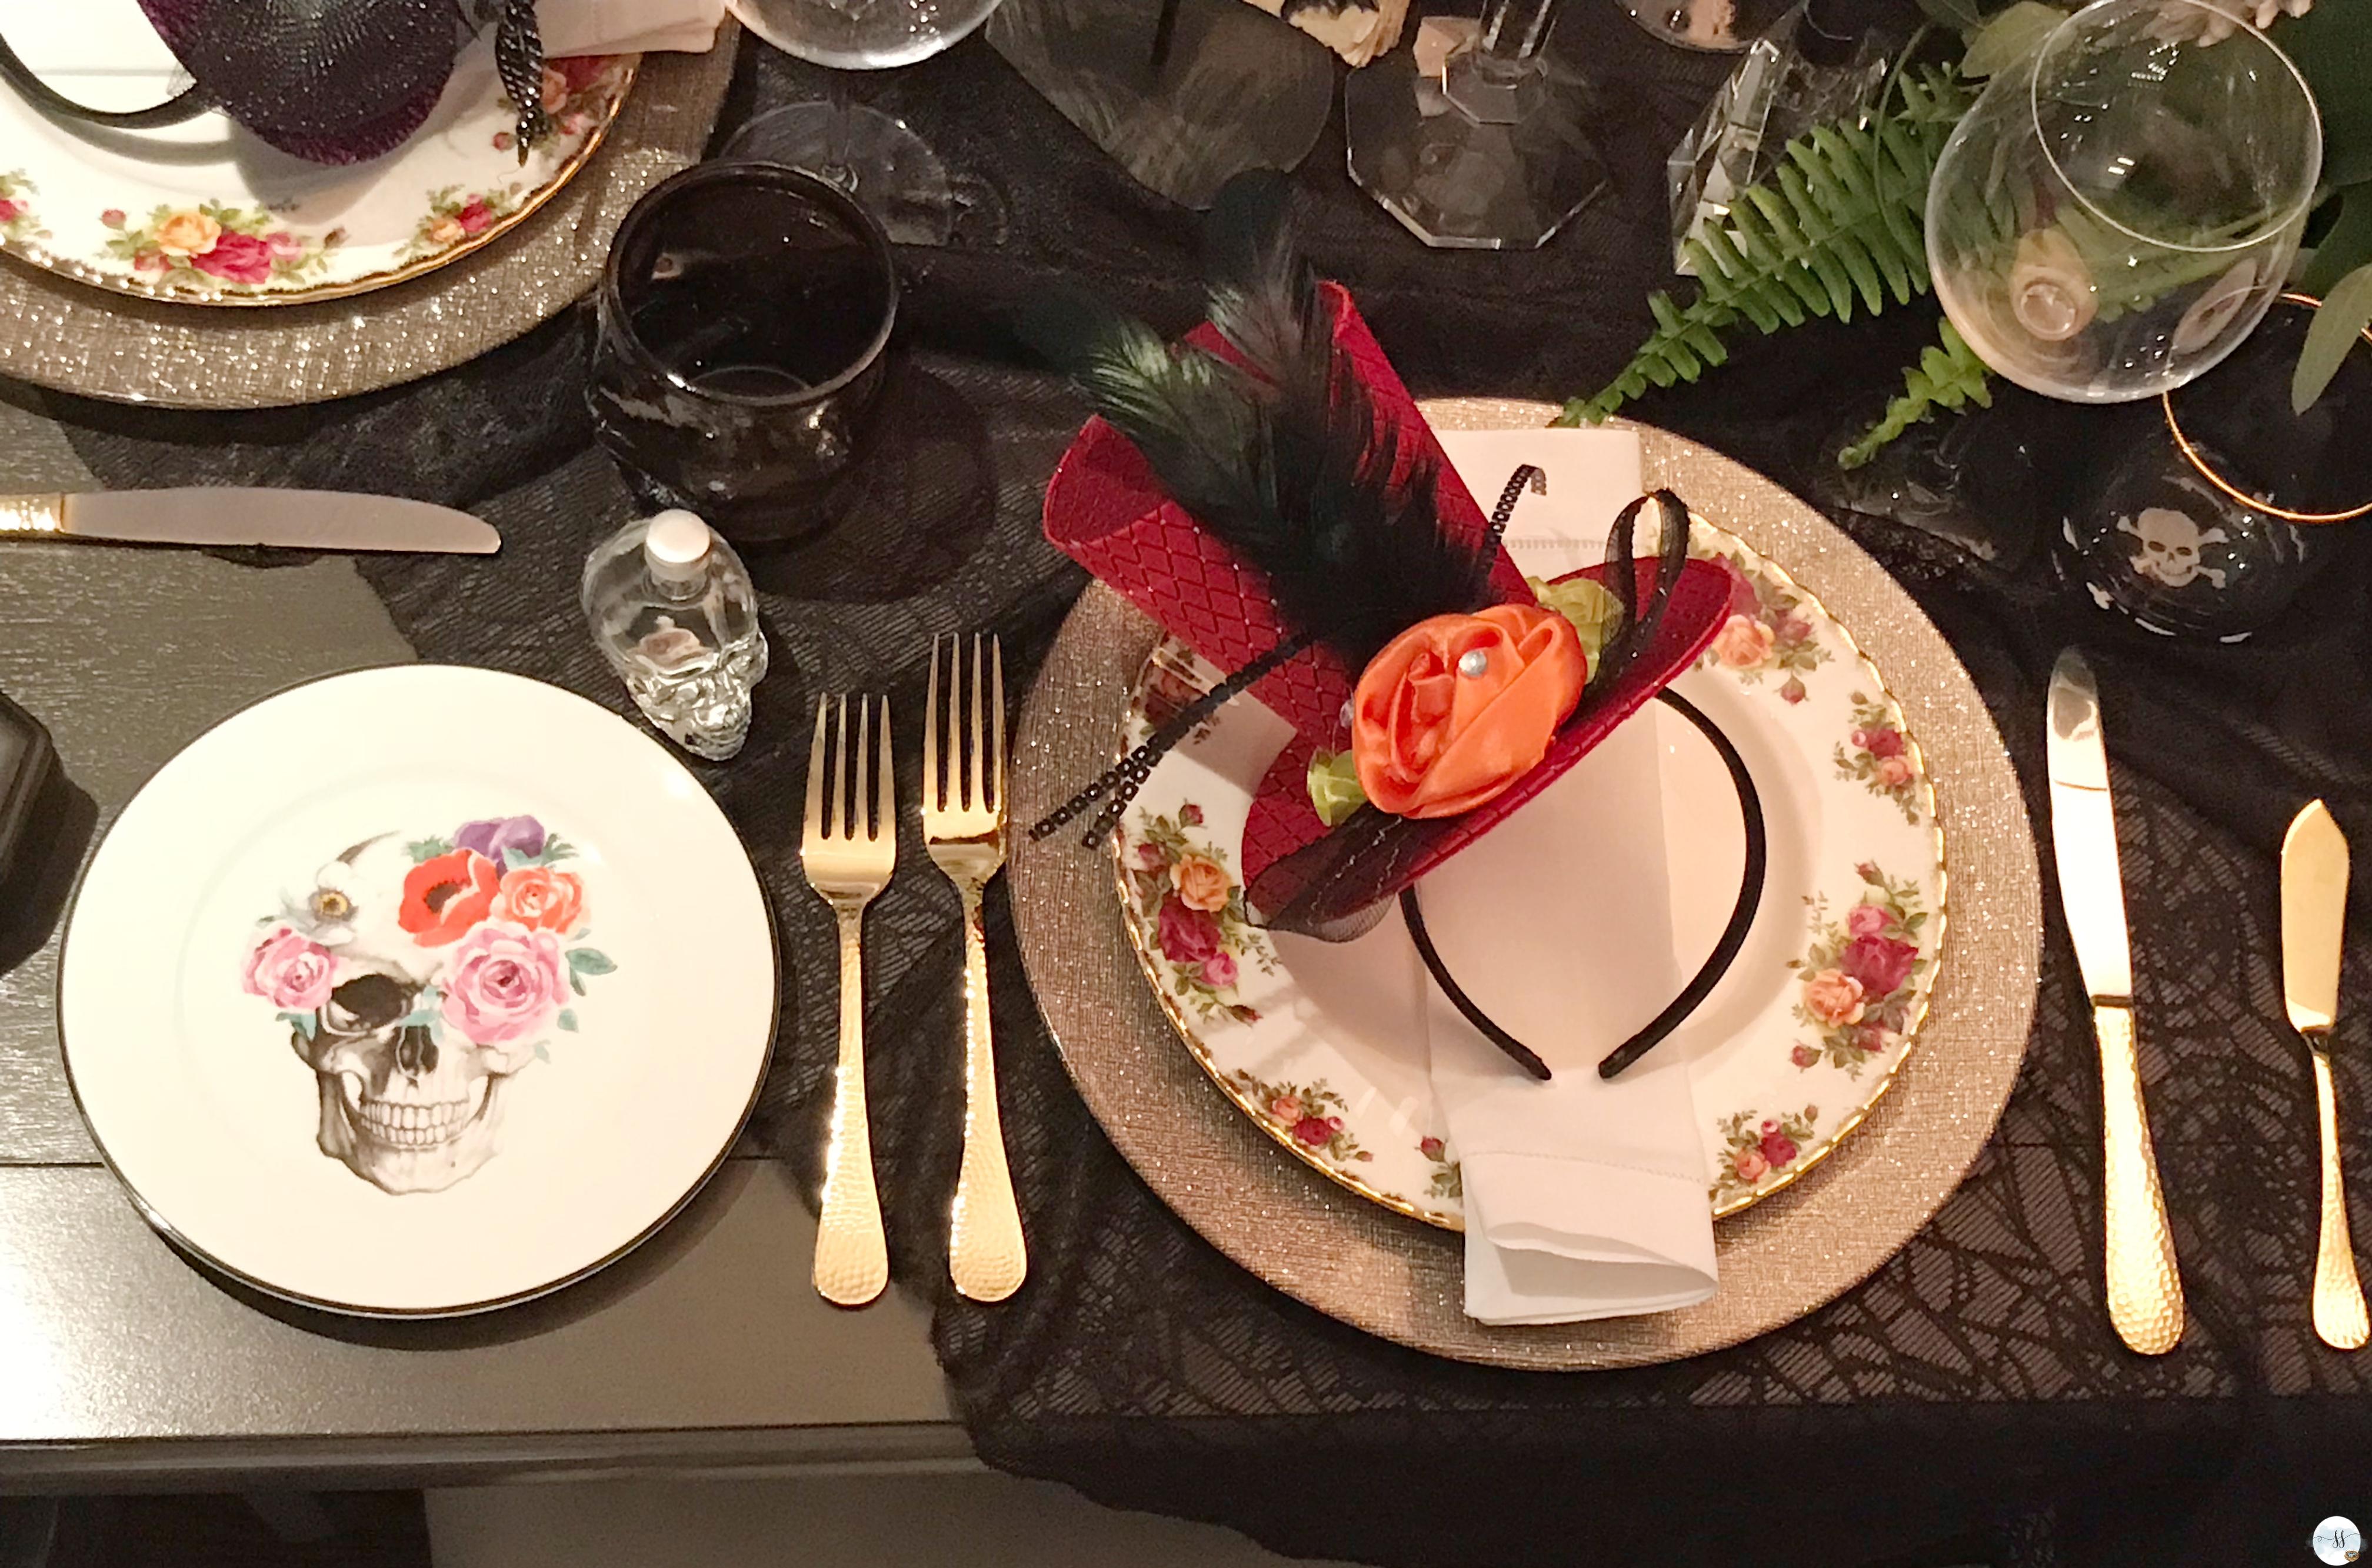
[[[1663,1046],[1689,1053],[1705,1193],[1715,1215],[1732,1215],[1817,1165],[1886,1094],[1936,977],[1945,861],[1919,745],[1853,633],[1703,520],[1691,553],[1727,560],[1736,588],[1713,650],[1675,690],[1748,759],[1770,835],[1746,946]],[[1124,745],[1219,676],[1181,643],[1158,645]],[[1658,740],[1665,854],[1689,973],[1736,897],[1736,797],[1679,719],[1651,707],[1634,724],[1670,726]],[[1122,923],[1162,1011],[1248,1117],[1343,1186],[1461,1229],[1459,1150],[1433,1103],[1421,992],[1402,996],[1402,975],[1421,987],[1423,973],[1407,961],[1399,916],[1350,944],[1248,920],[1243,826],[1286,738],[1257,702],[1231,702],[1160,761],[1115,835]],[[1592,844],[1561,849],[1577,875],[1603,863]],[[1577,1006],[1584,970],[1577,956]]]

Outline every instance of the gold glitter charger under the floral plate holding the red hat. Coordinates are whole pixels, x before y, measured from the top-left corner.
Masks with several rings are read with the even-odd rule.
[[[1547,425],[1547,403],[1449,399],[1445,429]],[[1826,520],[1694,441],[1641,429],[1665,484],[1850,624],[1921,738],[1952,847],[1952,923],[1919,1048],[1853,1139],[1803,1181],[1715,1229],[1710,1302],[1599,1324],[1468,1319],[1464,1243],[1392,1215],[1281,1150],[1205,1075],[1158,1006],[1112,897],[1112,861],[1070,840],[1013,861],[1013,911],[1039,1008],[1082,1098],[1148,1186],[1238,1264],[1369,1333],[1528,1369],[1670,1362],[1834,1300],[1936,1212],[1992,1132],[2026,1053],[2040,942],[2035,844],[1969,674],[1902,588]],[[1013,757],[1032,821],[1108,766],[1153,622],[1091,586],[1046,657]]]

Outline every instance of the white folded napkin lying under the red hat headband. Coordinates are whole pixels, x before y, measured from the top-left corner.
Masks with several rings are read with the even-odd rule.
[[[1630,432],[1445,432],[1442,446],[1485,508],[1518,463],[1549,474],[1549,493],[1525,498],[1509,527],[1528,576],[1599,562],[1615,512],[1639,496]],[[1686,1065],[1649,1058],[1618,1084],[1596,1075],[1682,984],[1660,757],[1649,709],[1421,890],[1449,973],[1556,1072],[1525,1077],[1426,987],[1433,1094],[1464,1172],[1466,1314],[1485,1324],[1630,1317],[1713,1295]]]

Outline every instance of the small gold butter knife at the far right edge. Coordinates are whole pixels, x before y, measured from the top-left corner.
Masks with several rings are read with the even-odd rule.
[[[2315,1333],[2334,1350],[2372,1340],[2365,1290],[2348,1241],[2348,1188],[2339,1179],[2339,1096],[2332,1094],[2332,1025],[2339,1020],[2339,939],[2348,925],[2348,837],[2320,799],[2282,837],[2282,996],[2289,1027],[2315,1058],[2322,1127],[2322,1241],[2315,1248]]]

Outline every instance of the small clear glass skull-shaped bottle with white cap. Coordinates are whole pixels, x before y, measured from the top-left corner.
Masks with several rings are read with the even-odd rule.
[[[669,740],[723,761],[750,738],[750,688],[766,674],[757,588],[740,555],[690,512],[612,534],[586,560],[593,640]]]

